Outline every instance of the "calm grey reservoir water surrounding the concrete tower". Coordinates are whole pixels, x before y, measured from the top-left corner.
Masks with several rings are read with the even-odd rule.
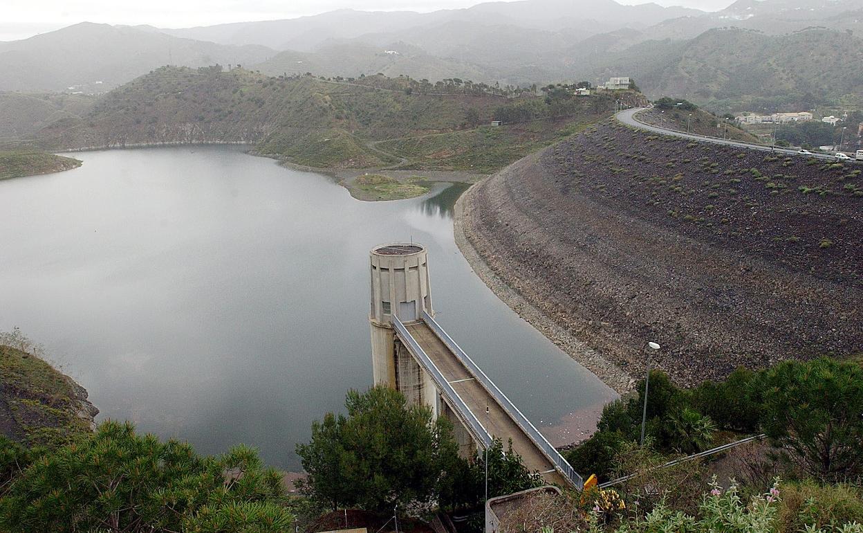
[[[0,330],[45,346],[100,419],[299,469],[312,420],[371,384],[369,250],[411,239],[438,321],[552,443],[614,397],[470,270],[452,235],[464,186],[372,203],[236,148],[74,156],[0,181]]]

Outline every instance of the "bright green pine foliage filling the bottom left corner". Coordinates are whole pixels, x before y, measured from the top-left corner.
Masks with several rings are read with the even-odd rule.
[[[0,531],[280,533],[293,530],[283,492],[249,447],[205,457],[104,422],[16,475],[0,498]]]

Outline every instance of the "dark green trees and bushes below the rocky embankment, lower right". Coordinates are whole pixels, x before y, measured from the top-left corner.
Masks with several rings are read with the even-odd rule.
[[[598,431],[567,453],[583,473],[607,480],[611,458],[640,438],[644,380],[638,396],[602,409]],[[785,361],[764,371],[738,369],[724,382],[677,388],[652,371],[646,436],[665,454],[715,446],[715,430],[763,432],[794,477],[827,482],[863,475],[863,367],[854,361]]]

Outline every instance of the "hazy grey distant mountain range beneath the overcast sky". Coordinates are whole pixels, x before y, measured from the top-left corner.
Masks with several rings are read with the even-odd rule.
[[[789,103],[807,95],[854,101],[859,35],[863,0],[738,0],[712,13],[521,0],[188,29],[82,23],[0,42],[0,91],[104,92],[163,65],[219,63],[273,76],[384,73],[521,86],[629,75],[649,96],[702,104],[787,92]]]

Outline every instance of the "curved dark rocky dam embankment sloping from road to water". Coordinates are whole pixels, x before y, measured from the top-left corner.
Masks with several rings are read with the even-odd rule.
[[[457,233],[499,295],[616,389],[648,340],[696,384],[863,352],[861,168],[608,121],[469,189]]]

